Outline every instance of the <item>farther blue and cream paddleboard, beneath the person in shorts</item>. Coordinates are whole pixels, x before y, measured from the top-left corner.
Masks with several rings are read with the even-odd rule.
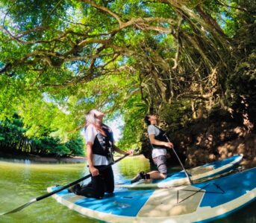
[[[225,158],[221,161],[215,161],[210,164],[205,164],[200,167],[195,167],[193,169],[187,169],[188,174],[192,181],[198,181],[202,178],[210,178],[214,175],[219,175],[224,172],[228,172],[231,169],[237,167],[237,165],[242,161],[243,155],[234,155],[230,158]],[[172,172],[167,175],[167,178],[153,181],[140,180],[131,184],[131,180],[124,181],[122,183],[116,184],[116,187],[126,187],[134,189],[145,189],[145,188],[165,188],[174,187],[184,184],[190,184],[184,170],[181,172]]]

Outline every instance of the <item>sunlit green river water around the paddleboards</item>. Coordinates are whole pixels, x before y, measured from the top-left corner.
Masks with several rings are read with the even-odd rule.
[[[131,178],[140,170],[149,170],[145,158],[125,158],[113,166],[115,181]],[[172,168],[178,171],[180,168]],[[46,188],[55,184],[68,184],[88,174],[86,164],[31,164],[0,161],[0,213],[13,210],[21,204],[46,193]],[[255,223],[256,202],[249,204],[231,216],[214,223]],[[0,216],[0,222],[97,222],[88,219],[53,198],[31,204],[18,213]],[[182,223],[182,222],[181,222]]]

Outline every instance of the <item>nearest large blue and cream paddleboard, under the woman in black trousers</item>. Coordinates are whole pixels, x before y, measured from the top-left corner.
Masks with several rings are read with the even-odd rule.
[[[60,204],[103,222],[210,222],[254,201],[256,168],[212,181],[158,190],[117,189],[97,200],[63,190]],[[48,192],[59,187],[49,187]]]

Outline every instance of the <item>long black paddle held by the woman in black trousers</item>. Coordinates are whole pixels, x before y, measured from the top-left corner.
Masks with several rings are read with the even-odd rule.
[[[134,152],[137,152],[138,149],[139,149],[139,148],[134,149]],[[108,167],[112,166],[113,164],[116,164],[117,162],[121,161],[123,158],[127,157],[128,155],[129,155],[129,154],[123,155],[122,157],[118,158],[116,161],[113,161],[113,163],[108,164],[106,167],[103,167],[103,168],[100,169],[100,170],[107,169]],[[50,193],[46,193],[46,194],[44,194],[44,195],[40,195],[40,196],[37,197],[37,198],[33,198],[31,201],[28,201],[27,203],[22,204],[21,206],[16,207],[16,208],[13,209],[13,210],[10,210],[10,211],[8,211],[8,212],[6,212],[6,213],[0,213],[0,216],[7,215],[7,214],[9,214],[9,213],[16,213],[16,212],[18,212],[19,210],[22,210],[22,209],[24,209],[25,207],[28,207],[29,205],[31,205],[31,204],[33,204],[33,203],[35,203],[35,202],[37,202],[37,201],[43,200],[44,198],[48,198],[49,196],[53,195],[54,193],[58,193],[58,192],[60,192],[61,190],[65,190],[65,189],[68,188],[68,187],[72,187],[73,185],[78,184],[79,182],[84,181],[85,179],[90,178],[91,176],[92,176],[91,174],[88,174],[88,175],[86,175],[86,176],[84,176],[84,177],[82,177],[82,178],[80,178],[80,179],[78,179],[78,180],[76,180],[76,181],[73,181],[73,182],[71,182],[71,183],[69,183],[69,184],[66,184],[66,185],[63,186],[63,187],[60,187],[60,189],[58,189],[58,190],[51,191]]]

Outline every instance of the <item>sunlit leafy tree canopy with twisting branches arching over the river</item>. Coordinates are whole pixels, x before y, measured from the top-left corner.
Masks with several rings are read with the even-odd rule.
[[[256,97],[253,0],[0,5],[0,119],[17,112],[28,136],[72,138],[93,108],[122,115],[122,146],[139,143],[147,112],[172,127],[215,108],[255,122],[255,100],[232,107]]]

